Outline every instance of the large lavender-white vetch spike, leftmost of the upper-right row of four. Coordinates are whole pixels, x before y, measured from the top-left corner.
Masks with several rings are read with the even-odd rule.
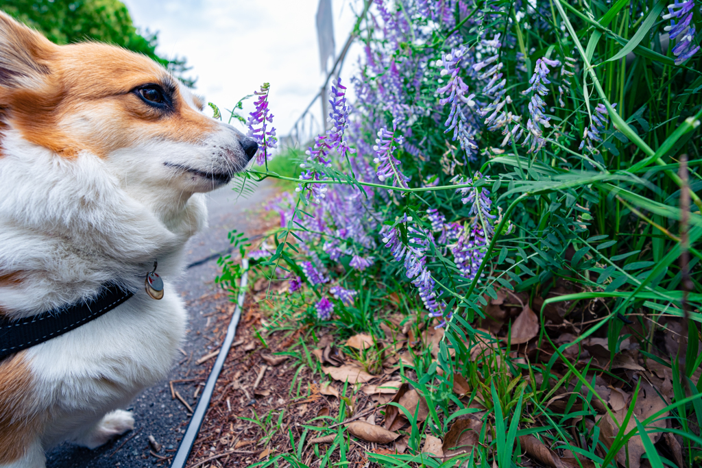
[[[446,119],[446,130],[444,133],[449,133],[453,130],[453,140],[458,140],[461,143],[461,148],[468,154],[469,161],[477,159],[477,143],[475,142],[475,134],[477,129],[474,128],[468,121],[470,110],[468,107],[475,107],[475,94],[465,96],[468,93],[468,85],[463,82],[458,72],[461,71],[461,58],[465,55],[465,46],[453,49],[449,54],[442,54],[442,60],[437,60],[437,66],[443,66],[441,71],[442,76],[451,74],[449,82],[446,85],[437,89],[437,93],[446,94],[446,98],[439,100],[440,105],[451,103],[451,112],[449,118]]]

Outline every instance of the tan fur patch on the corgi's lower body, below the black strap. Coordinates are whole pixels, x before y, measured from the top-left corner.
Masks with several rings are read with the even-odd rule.
[[[43,422],[30,405],[32,374],[24,352],[0,363],[0,464],[19,460]]]

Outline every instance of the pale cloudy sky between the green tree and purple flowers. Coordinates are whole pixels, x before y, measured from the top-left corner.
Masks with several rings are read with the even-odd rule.
[[[197,76],[196,93],[223,114],[268,81],[273,124],[278,135],[286,135],[322,85],[315,20],[319,0],[123,1],[136,26],[159,32],[160,55],[187,58],[193,67],[189,73]],[[355,22],[351,5],[361,8],[362,1],[332,0],[337,53]],[[342,79],[355,62],[347,57]],[[252,107],[249,100],[244,110]]]

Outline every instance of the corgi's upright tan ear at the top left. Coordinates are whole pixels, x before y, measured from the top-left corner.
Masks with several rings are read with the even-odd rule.
[[[57,47],[0,11],[0,88],[40,87],[50,74],[46,62]]]

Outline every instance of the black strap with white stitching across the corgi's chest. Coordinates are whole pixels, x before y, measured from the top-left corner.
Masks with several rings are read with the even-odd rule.
[[[0,359],[97,319],[132,296],[119,286],[107,284],[88,301],[14,321],[0,318]]]

